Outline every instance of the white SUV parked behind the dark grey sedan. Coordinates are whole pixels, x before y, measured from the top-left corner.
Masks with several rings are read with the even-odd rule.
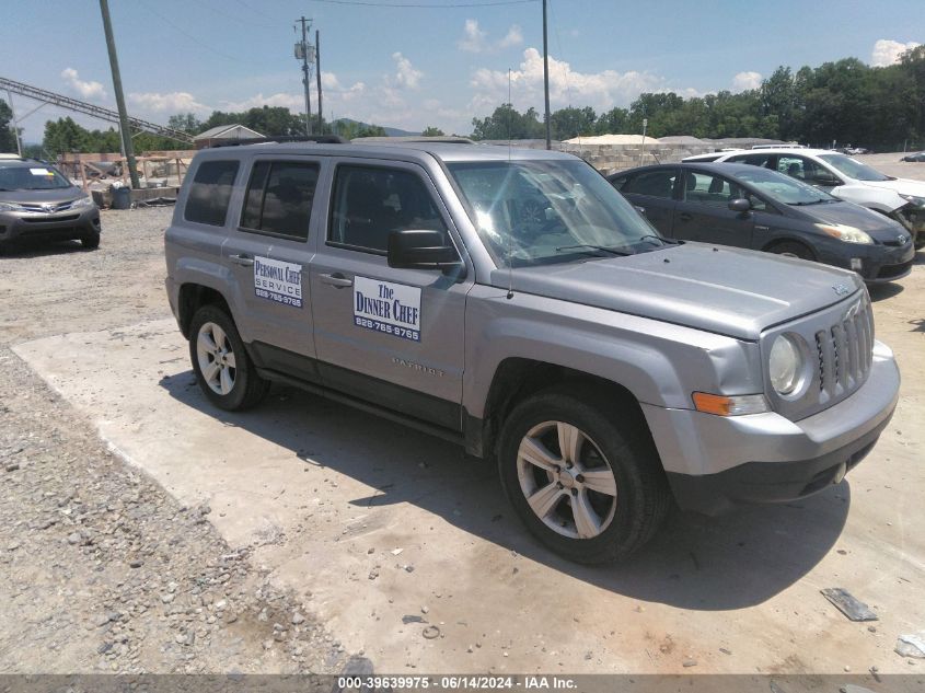
[[[743,149],[687,157],[686,162],[750,163],[786,173],[835,197],[868,207],[903,224],[925,245],[925,183],[894,178],[856,159],[825,149]]]

